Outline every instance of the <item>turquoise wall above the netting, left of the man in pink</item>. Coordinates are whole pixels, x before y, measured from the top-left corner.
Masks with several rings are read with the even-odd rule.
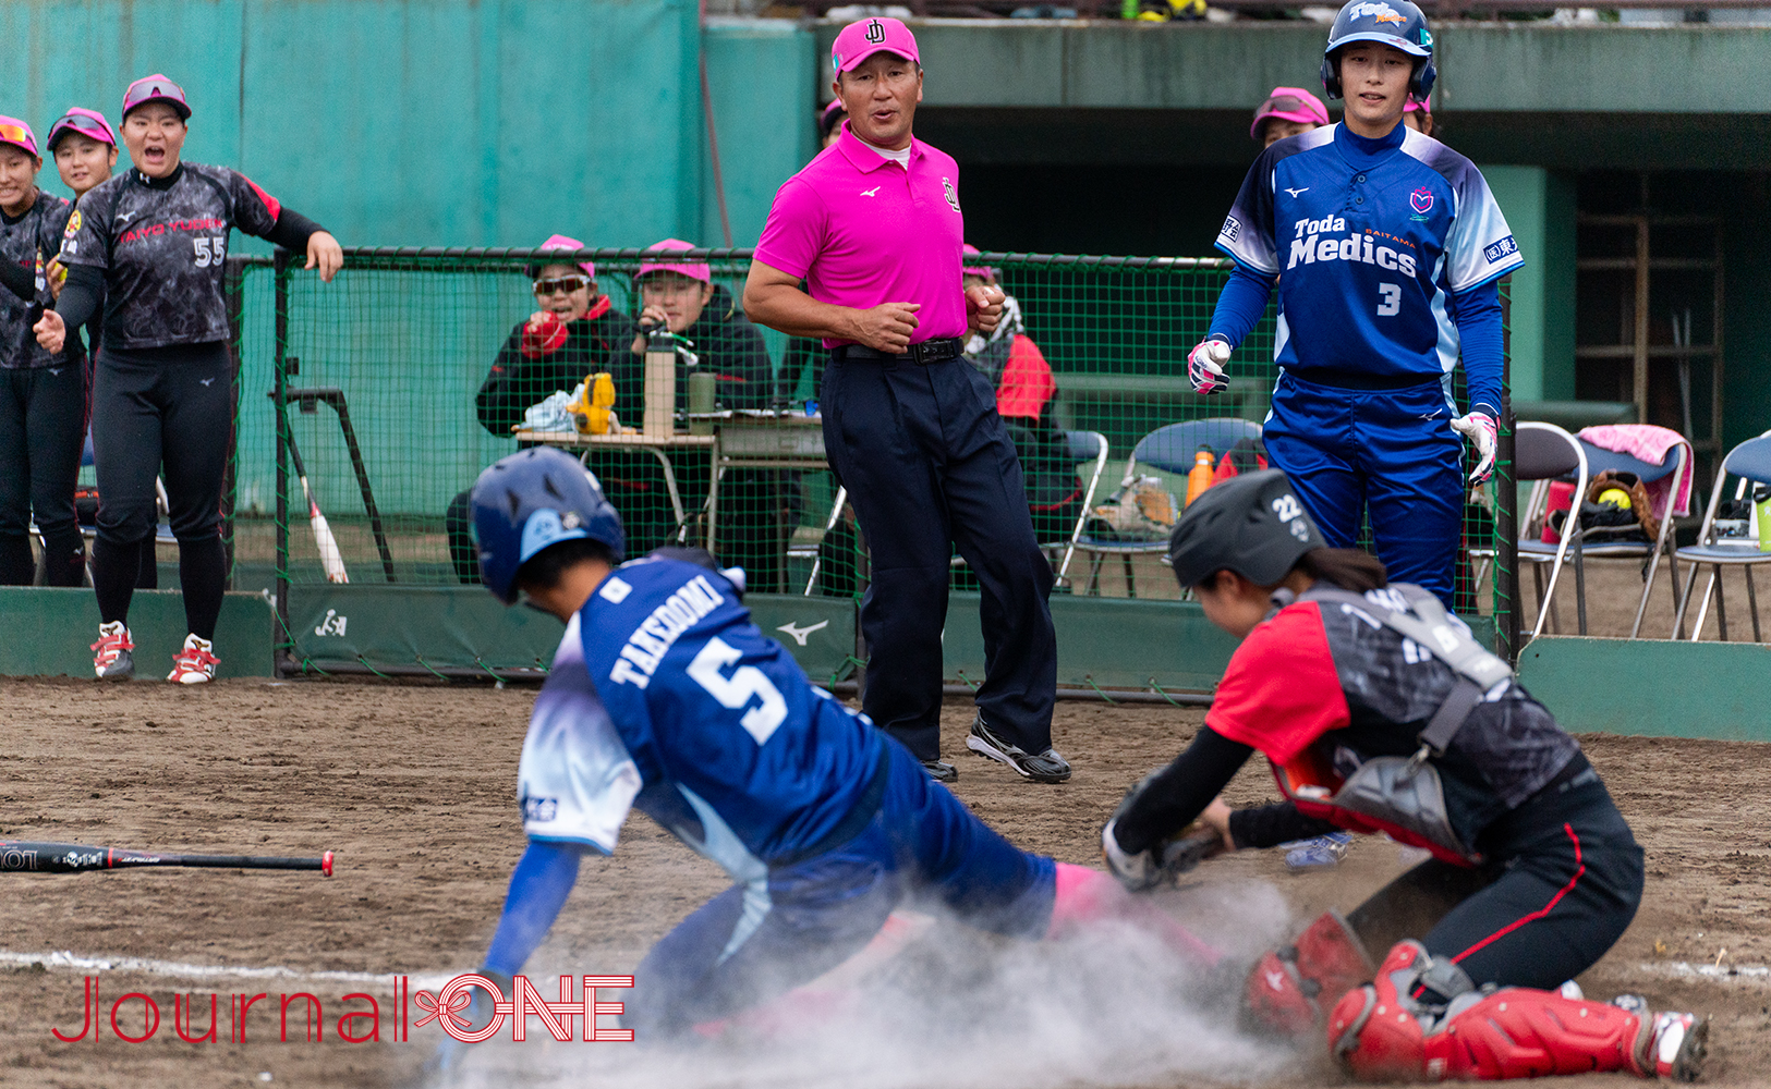
[[[721,241],[692,0],[35,0],[0,5],[0,35],[19,44],[5,110],[39,135],[69,104],[115,120],[163,71],[195,110],[189,159],[347,244]],[[792,25],[708,30],[740,244],[809,154],[813,67]]]

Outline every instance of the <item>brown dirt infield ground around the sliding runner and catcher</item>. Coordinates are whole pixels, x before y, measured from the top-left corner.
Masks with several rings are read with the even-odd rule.
[[[437,1032],[425,1027],[411,1043],[391,1041],[384,976],[409,974],[414,986],[436,988],[478,963],[522,850],[512,795],[531,699],[533,691],[441,684],[243,680],[179,691],[145,682],[0,682],[0,838],[225,853],[338,852],[333,880],[244,871],[0,878],[0,1085],[406,1084]],[[965,722],[965,707],[949,705],[949,753],[960,753]],[[1070,784],[1025,786],[1006,768],[967,758],[958,795],[1015,841],[1093,862],[1096,830],[1119,793],[1171,758],[1197,722],[1195,710],[1066,703],[1056,737],[1077,765]],[[1635,926],[1582,983],[1596,997],[1635,990],[1713,1013],[1707,1082],[1771,1084],[1771,976],[1755,970],[1771,962],[1764,910],[1771,804],[1760,790],[1767,751],[1612,737],[1583,744],[1647,846],[1649,892]],[[1243,772],[1231,790],[1238,804],[1270,797],[1272,784],[1257,770]],[[1250,852],[1208,864],[1195,887],[1171,898],[1171,908],[1201,933],[1241,947],[1266,937],[1247,933],[1249,924],[1284,926],[1280,905],[1293,917],[1351,907],[1399,866],[1399,848],[1383,841],[1360,841],[1339,871],[1309,877],[1286,875],[1272,852]],[[613,859],[586,861],[537,963],[623,972],[724,884],[710,864],[636,818]],[[55,951],[113,965],[34,963],[34,954]],[[1723,970],[1746,970],[1716,977],[1691,967],[1718,958]],[[290,974],[239,972],[264,967]],[[324,972],[367,976],[315,976]],[[80,1032],[85,979],[99,988],[97,1039],[62,1043],[51,1027]],[[1096,986],[1110,992],[1116,979],[1100,977]],[[112,1002],[128,992],[149,995],[161,1011],[163,1023],[145,1043],[124,1043],[112,1029]],[[259,992],[269,997],[251,1008],[246,1043],[228,1041],[230,995]],[[301,1041],[301,1000],[290,1006],[290,1041],[276,1041],[278,997],[296,992],[312,992],[324,1006],[319,1043]],[[377,997],[381,1043],[338,1039],[338,1015],[367,1009],[363,999],[344,1004],[349,992]],[[218,995],[218,1041],[182,1043],[174,1034],[174,997],[189,993],[197,995],[191,1036],[205,1031],[211,995]],[[900,1041],[912,1057],[873,1062],[873,1082],[1002,1089],[1339,1084],[1314,1057],[1227,1039],[1222,1009],[1176,1022],[1169,1041],[1139,1027],[1137,1039],[1153,1048],[1144,1057],[1123,1039],[1110,1048],[1068,1041],[1068,1050],[1054,1050],[1075,1027],[1054,1022],[1050,1009],[1015,1011],[1025,1018],[1024,1039],[999,1034],[990,1038],[994,1048],[981,1048],[972,1038],[951,1052],[940,1050],[947,1041]],[[142,999],[129,999],[117,1015],[129,1036],[143,1034],[147,1023]],[[367,1023],[349,1027],[365,1034]],[[1094,1020],[1080,1016],[1080,1023],[1084,1034],[1125,1029],[1137,1023],[1137,1011],[1100,1016],[1096,1009]],[[1020,1052],[1032,1043],[1047,1050],[1034,1048],[1040,1057],[1029,1066]],[[799,1064],[703,1052],[675,1066],[645,1064],[634,1054],[627,1045],[558,1045],[531,1032],[526,1045],[476,1052],[482,1080],[475,1084],[859,1084],[836,1073],[843,1057],[834,1052]],[[886,1077],[884,1066],[896,1073]]]

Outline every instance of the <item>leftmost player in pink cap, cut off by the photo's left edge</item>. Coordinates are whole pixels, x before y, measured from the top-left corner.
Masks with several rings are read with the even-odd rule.
[[[87,547],[74,519],[87,432],[87,361],[80,342],[46,349],[32,322],[53,301],[44,266],[62,244],[71,204],[37,188],[37,135],[0,117],[0,584],[30,586],[32,514],[50,586],[80,586]]]

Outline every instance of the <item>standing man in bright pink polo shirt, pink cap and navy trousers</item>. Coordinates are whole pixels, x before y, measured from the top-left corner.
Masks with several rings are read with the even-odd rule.
[[[1052,567],[990,382],[960,358],[971,329],[995,328],[1002,292],[962,287],[960,170],[910,135],[923,101],[910,28],[850,23],[831,66],[848,120],[776,193],[744,310],[783,333],[822,336],[831,352],[818,395],[824,444],[873,552],[862,703],[930,776],[958,777],[940,760],[940,630],[956,544],[983,590],[986,669],[965,744],[1034,783],[1063,783]]]

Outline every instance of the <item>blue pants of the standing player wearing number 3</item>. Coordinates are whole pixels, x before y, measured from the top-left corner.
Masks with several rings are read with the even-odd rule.
[[[1440,381],[1339,390],[1282,372],[1263,439],[1335,549],[1371,515],[1378,560],[1452,607],[1463,521],[1463,441]]]

